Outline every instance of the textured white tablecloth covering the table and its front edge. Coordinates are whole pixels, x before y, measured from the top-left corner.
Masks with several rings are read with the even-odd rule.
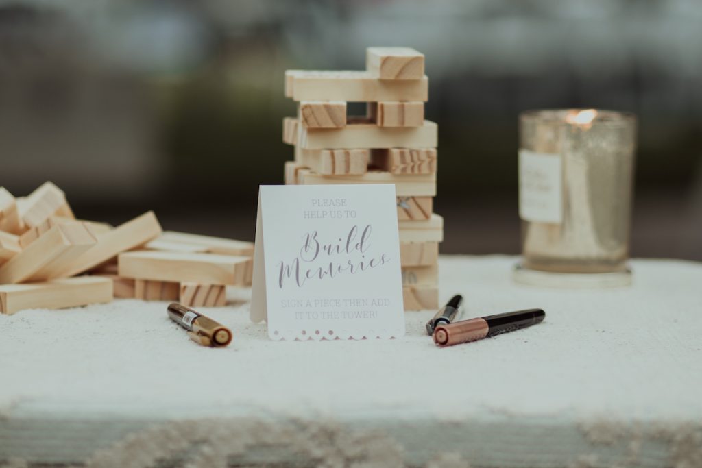
[[[433,312],[408,312],[402,340],[272,342],[249,290],[206,311],[225,349],[165,302],[0,316],[0,466],[702,467],[702,265],[553,290],[512,283],[515,260],[443,257],[441,300],[545,321],[445,349]]]

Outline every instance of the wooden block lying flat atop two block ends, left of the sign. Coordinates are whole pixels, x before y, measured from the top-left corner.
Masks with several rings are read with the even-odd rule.
[[[119,276],[183,283],[244,285],[251,258],[142,250],[119,255]]]

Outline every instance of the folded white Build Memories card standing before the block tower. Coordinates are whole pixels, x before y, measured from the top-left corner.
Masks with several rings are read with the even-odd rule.
[[[261,186],[251,320],[273,340],[404,335],[395,186]]]

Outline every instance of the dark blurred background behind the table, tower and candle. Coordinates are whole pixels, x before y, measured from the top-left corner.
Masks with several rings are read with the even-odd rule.
[[[426,55],[444,253],[517,253],[517,114],[639,116],[633,255],[702,260],[699,0],[0,2],[0,185],[79,218],[253,239],[285,69]]]

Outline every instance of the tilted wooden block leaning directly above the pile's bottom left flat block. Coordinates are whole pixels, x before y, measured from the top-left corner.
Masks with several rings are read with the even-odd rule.
[[[81,222],[56,225],[0,267],[0,283],[60,278],[65,265],[95,246],[97,240]]]

